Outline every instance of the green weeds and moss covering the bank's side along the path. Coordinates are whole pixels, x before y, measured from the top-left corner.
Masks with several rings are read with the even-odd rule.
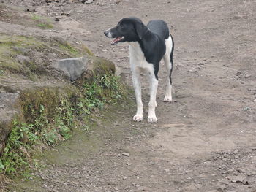
[[[92,112],[121,101],[127,89],[119,77],[108,73],[85,82],[80,93],[80,96],[70,95],[56,99],[59,102],[53,104],[56,101],[48,103],[40,100],[44,96],[39,92],[35,98],[38,101],[28,100],[24,103],[26,122],[13,122],[10,137],[0,159],[0,174],[15,177],[29,169],[34,164],[35,151],[72,137],[74,128],[86,127],[84,125]],[[50,94],[45,91],[45,95]]]

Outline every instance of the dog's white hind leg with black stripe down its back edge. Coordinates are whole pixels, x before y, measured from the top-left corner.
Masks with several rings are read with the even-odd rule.
[[[165,68],[167,72],[165,102],[171,102],[172,98],[172,72],[173,72],[173,38],[170,36],[165,40],[166,52],[164,55]]]

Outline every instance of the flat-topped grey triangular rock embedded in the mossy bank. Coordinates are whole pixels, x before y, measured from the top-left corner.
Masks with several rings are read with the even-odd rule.
[[[84,71],[86,71],[87,58],[65,58],[53,63],[52,66],[61,70],[70,78],[70,80],[77,80]]]

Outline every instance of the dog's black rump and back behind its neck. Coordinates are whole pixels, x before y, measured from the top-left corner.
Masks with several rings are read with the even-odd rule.
[[[168,39],[170,36],[169,28],[163,20],[151,20],[147,25],[148,29],[157,34],[162,39]]]

